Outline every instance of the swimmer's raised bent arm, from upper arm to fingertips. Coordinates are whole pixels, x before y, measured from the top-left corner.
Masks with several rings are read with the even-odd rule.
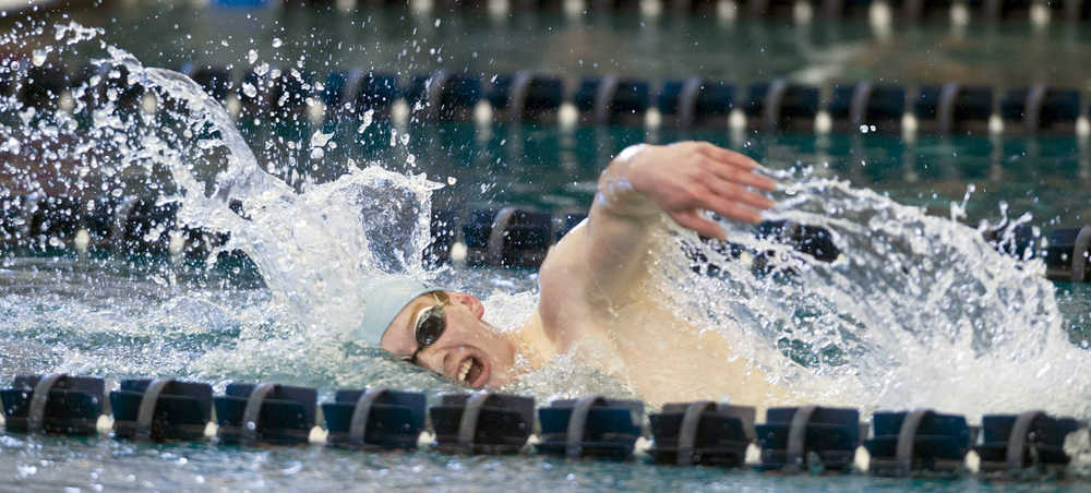
[[[548,298],[571,302],[579,297],[592,310],[624,303],[628,289],[647,273],[649,229],[662,214],[721,240],[723,228],[703,217],[702,209],[745,223],[762,220],[758,211],[774,202],[750,189],[772,191],[776,183],[755,173],[757,167],[742,154],[708,143],[626,148],[600,177],[587,223],[565,236],[547,258],[542,292],[564,290],[568,296]]]

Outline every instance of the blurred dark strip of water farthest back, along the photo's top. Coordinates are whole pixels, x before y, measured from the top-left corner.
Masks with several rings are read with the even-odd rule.
[[[515,11],[494,17],[483,7],[442,1],[428,12],[404,4],[344,12],[332,4],[232,9],[107,1],[69,16],[106,28],[108,43],[168,68],[241,65],[255,49],[271,63],[317,71],[407,74],[444,68],[612,72],[652,80],[699,74],[735,83],[787,76],[812,83],[871,79],[1082,87],[1088,82],[1083,68],[1091,63],[1091,32],[1059,19],[1044,28],[1019,20],[972,19],[958,28],[944,15],[918,24],[896,13],[884,34],[860,17],[802,26],[787,19],[726,22],[712,12],[644,16],[633,9],[577,16],[556,9]],[[11,22],[0,20],[0,25]],[[277,39],[280,46],[274,48]]]

